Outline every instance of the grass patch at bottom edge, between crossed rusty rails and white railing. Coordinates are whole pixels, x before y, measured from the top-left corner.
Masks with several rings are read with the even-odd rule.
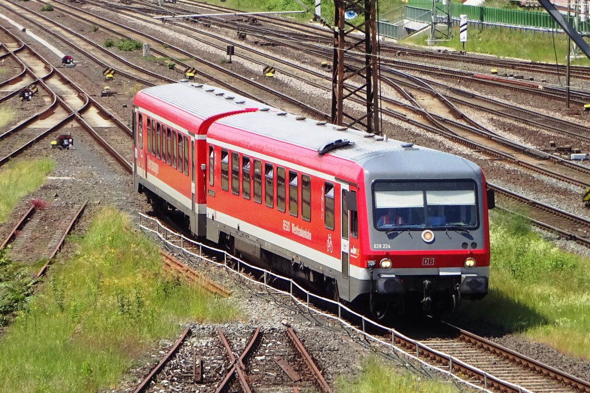
[[[362,365],[362,373],[351,381],[344,375],[336,381],[338,393],[454,393],[461,390],[448,382],[417,377],[409,371],[398,372],[383,365],[381,359],[370,357]]]

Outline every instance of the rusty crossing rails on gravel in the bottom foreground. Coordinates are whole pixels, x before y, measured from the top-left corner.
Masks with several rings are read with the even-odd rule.
[[[291,328],[277,331],[240,326],[228,333],[224,331],[228,328],[204,326],[196,334],[192,332],[195,329],[187,328],[182,333],[134,393],[148,391],[154,385],[216,393],[316,389],[332,393],[320,368]],[[186,346],[188,338],[193,344]]]

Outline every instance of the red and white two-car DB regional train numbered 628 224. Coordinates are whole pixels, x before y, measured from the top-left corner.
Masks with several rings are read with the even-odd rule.
[[[139,91],[133,132],[135,189],[258,265],[376,318],[487,293],[493,193],[471,161],[189,82]]]

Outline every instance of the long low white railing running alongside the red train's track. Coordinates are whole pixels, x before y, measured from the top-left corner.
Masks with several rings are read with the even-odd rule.
[[[152,224],[156,225],[156,230],[151,229],[147,226],[145,226],[143,223],[145,222],[151,222]],[[201,260],[205,260],[209,263],[212,263],[214,265],[220,266],[220,267],[224,267],[228,272],[234,273],[236,275],[241,276],[242,278],[250,281],[251,283],[254,283],[255,285],[262,285],[264,287],[266,287],[267,289],[273,290],[274,292],[277,293],[282,293],[283,295],[287,295],[289,296],[294,302],[296,302],[297,304],[299,304],[300,306],[306,308],[308,311],[310,312],[314,312],[318,315],[322,315],[325,318],[328,319],[333,319],[335,321],[340,322],[340,324],[342,324],[343,326],[346,326],[346,328],[352,329],[353,331],[359,333],[360,335],[363,335],[365,337],[365,339],[371,340],[373,342],[377,342],[383,346],[386,346],[388,348],[393,349],[394,351],[398,352],[399,354],[402,354],[404,356],[407,356],[408,358],[414,359],[415,361],[420,362],[422,365],[424,365],[427,368],[431,368],[431,369],[435,369],[436,371],[442,372],[443,374],[446,375],[450,375],[451,377],[457,379],[457,381],[463,382],[464,384],[469,385],[470,387],[476,388],[476,389],[480,389],[482,391],[486,391],[486,392],[490,392],[487,389],[487,383],[488,381],[494,381],[494,382],[498,382],[500,384],[505,384],[505,385],[509,385],[510,387],[512,387],[513,389],[522,392],[522,393],[533,393],[523,387],[520,387],[519,385],[514,385],[511,384],[510,382],[506,382],[503,379],[500,378],[496,378],[491,374],[488,374],[487,372],[468,365],[467,363],[455,358],[454,356],[451,355],[447,355],[444,354],[443,352],[439,352],[435,349],[430,348],[429,346],[422,344],[419,341],[413,340],[405,335],[403,335],[402,333],[399,333],[398,331],[396,331],[395,329],[392,328],[388,328],[386,326],[380,325],[379,323],[376,323],[375,321],[372,321],[369,318],[366,318],[366,316],[360,315],[359,313],[352,311],[350,308],[348,308],[347,306],[343,305],[342,303],[336,302],[335,300],[332,299],[327,299],[327,298],[322,298],[322,296],[318,296],[312,292],[309,292],[308,290],[302,288],[299,284],[297,284],[296,282],[294,282],[292,279],[290,278],[286,278],[280,275],[277,275],[276,273],[270,272],[266,269],[261,269],[258,266],[254,266],[254,265],[250,265],[247,262],[244,262],[241,259],[238,259],[237,257],[228,254],[227,252],[225,252],[224,250],[219,250],[216,249],[214,247],[210,247],[208,245],[204,245],[203,243],[199,243],[196,242],[195,240],[192,239],[188,239],[188,237],[185,237],[179,233],[173,232],[172,230],[166,228],[165,226],[163,226],[158,220],[146,216],[145,214],[139,213],[139,227],[144,230],[147,233],[151,233],[152,235],[155,235],[157,237],[159,237],[160,240],[162,240],[162,242],[164,242],[166,245],[172,247],[173,249],[178,250],[179,252],[183,253],[184,255],[189,255],[189,256],[193,256],[193,257],[198,257]],[[171,240],[172,239],[172,240]],[[173,243],[174,241],[178,242],[178,244]],[[190,250],[186,249],[184,246],[186,244],[192,245],[194,247],[198,247],[199,249],[199,253],[196,254],[194,252],[191,252]],[[212,252],[215,253],[222,253],[224,255],[224,262],[217,262],[217,260],[212,260],[209,259],[207,256],[203,255],[203,249],[207,249],[207,250],[211,250]],[[236,263],[236,267],[232,267],[231,266],[231,261],[234,261]],[[243,266],[247,266],[248,269],[253,269],[256,270],[257,272],[262,273],[263,275],[263,280],[256,280],[253,279],[250,275],[245,275],[241,272],[241,269]],[[284,290],[280,290],[277,288],[274,288],[274,286],[270,286],[268,285],[268,282],[270,279],[278,279],[278,280],[283,280],[286,283],[289,283],[289,292],[286,292]],[[274,281],[274,280],[273,280]],[[299,290],[300,292],[304,293],[306,296],[306,301],[303,302],[299,297],[297,297],[294,294],[294,288],[297,288],[297,290]],[[337,306],[338,308],[338,315],[332,315],[329,313],[325,313],[317,308],[314,308],[314,306],[310,305],[310,299],[317,299],[317,300],[321,300],[322,302],[326,302],[326,303],[330,303],[334,306]],[[356,318],[360,318],[362,323],[362,328],[358,328],[356,326],[351,325],[349,322],[345,321],[345,319],[342,318],[342,312],[345,311],[347,313],[349,313],[350,315],[355,316]],[[389,332],[389,335],[391,335],[391,342],[388,341],[383,341],[382,339],[373,336],[371,334],[369,334],[367,332],[367,325],[373,326],[373,328],[379,328],[382,329],[385,332]],[[398,348],[395,346],[395,338],[401,338],[404,339],[407,342],[410,342],[412,345],[415,345],[416,348],[416,354],[410,354],[409,352],[405,352],[404,350],[402,350],[401,348]],[[433,366],[431,364],[428,364],[427,362],[423,361],[422,359],[419,358],[419,351],[420,349],[426,349],[427,351],[440,356],[441,358],[445,358],[448,361],[448,369],[445,368],[440,368],[437,366]],[[471,382],[468,381],[464,381],[463,379],[457,377],[457,375],[453,374],[453,367],[454,366],[463,366],[467,369],[473,369],[474,371],[480,373],[481,375],[483,375],[484,381],[483,384],[484,386],[478,386],[476,384],[473,384]]]

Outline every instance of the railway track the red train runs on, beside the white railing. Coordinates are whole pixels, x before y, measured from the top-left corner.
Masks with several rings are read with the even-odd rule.
[[[379,325],[344,305],[336,306],[331,299],[310,295],[293,280],[248,265],[227,253],[221,258],[212,258],[208,256],[209,252],[218,253],[219,250],[193,242],[153,218],[141,215],[140,226],[148,234],[156,235],[166,246],[182,252],[192,263],[209,262],[235,274],[245,274],[248,282],[286,295],[286,305],[291,306],[291,299],[297,299],[302,309],[317,312],[336,320],[349,331],[360,333],[364,340],[372,343],[372,348],[381,346],[386,351],[402,351],[408,358],[417,359],[471,386],[514,393],[590,392],[588,381],[455,326],[435,321],[417,321],[410,327],[399,329]],[[242,273],[242,269],[248,271]],[[251,278],[252,272],[259,272],[260,279]]]

